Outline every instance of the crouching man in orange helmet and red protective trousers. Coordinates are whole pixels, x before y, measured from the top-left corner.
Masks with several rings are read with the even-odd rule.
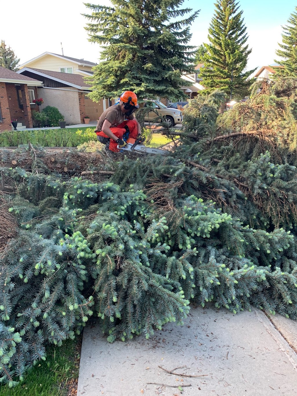
[[[97,139],[113,152],[119,152],[118,147],[125,147],[126,141],[130,137],[138,140],[139,143],[144,140],[141,136],[139,122],[133,115],[133,112],[138,108],[135,93],[132,91],[123,92],[119,103],[109,107],[101,114],[95,129]]]

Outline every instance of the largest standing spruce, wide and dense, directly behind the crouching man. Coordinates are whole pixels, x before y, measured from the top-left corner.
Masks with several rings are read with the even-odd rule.
[[[86,4],[89,41],[103,50],[101,62],[88,78],[89,95],[99,101],[118,97],[126,89],[145,98],[183,96],[181,73],[191,72],[194,46],[190,24],[198,12],[177,20],[192,9],[178,7],[184,0],[111,0],[112,7]]]

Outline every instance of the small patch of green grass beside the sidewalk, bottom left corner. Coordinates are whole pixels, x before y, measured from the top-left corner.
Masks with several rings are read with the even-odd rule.
[[[15,388],[0,386],[1,396],[66,396],[68,384],[78,378],[79,354],[77,339],[67,340],[61,347],[49,346],[46,361],[37,363]]]

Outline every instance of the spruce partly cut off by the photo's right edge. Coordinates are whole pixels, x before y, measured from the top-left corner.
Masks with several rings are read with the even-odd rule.
[[[282,43],[278,43],[280,49],[276,50],[276,55],[283,60],[275,60],[284,68],[276,68],[277,74],[286,76],[297,75],[297,6],[295,12],[290,14],[287,20],[288,25],[283,26]]]

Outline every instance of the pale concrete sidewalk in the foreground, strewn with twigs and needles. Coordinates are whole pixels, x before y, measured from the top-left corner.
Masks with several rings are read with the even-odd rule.
[[[297,346],[297,322],[214,305],[192,307],[185,326],[167,324],[149,340],[109,344],[89,324],[77,395],[295,396],[297,354],[284,337]]]

